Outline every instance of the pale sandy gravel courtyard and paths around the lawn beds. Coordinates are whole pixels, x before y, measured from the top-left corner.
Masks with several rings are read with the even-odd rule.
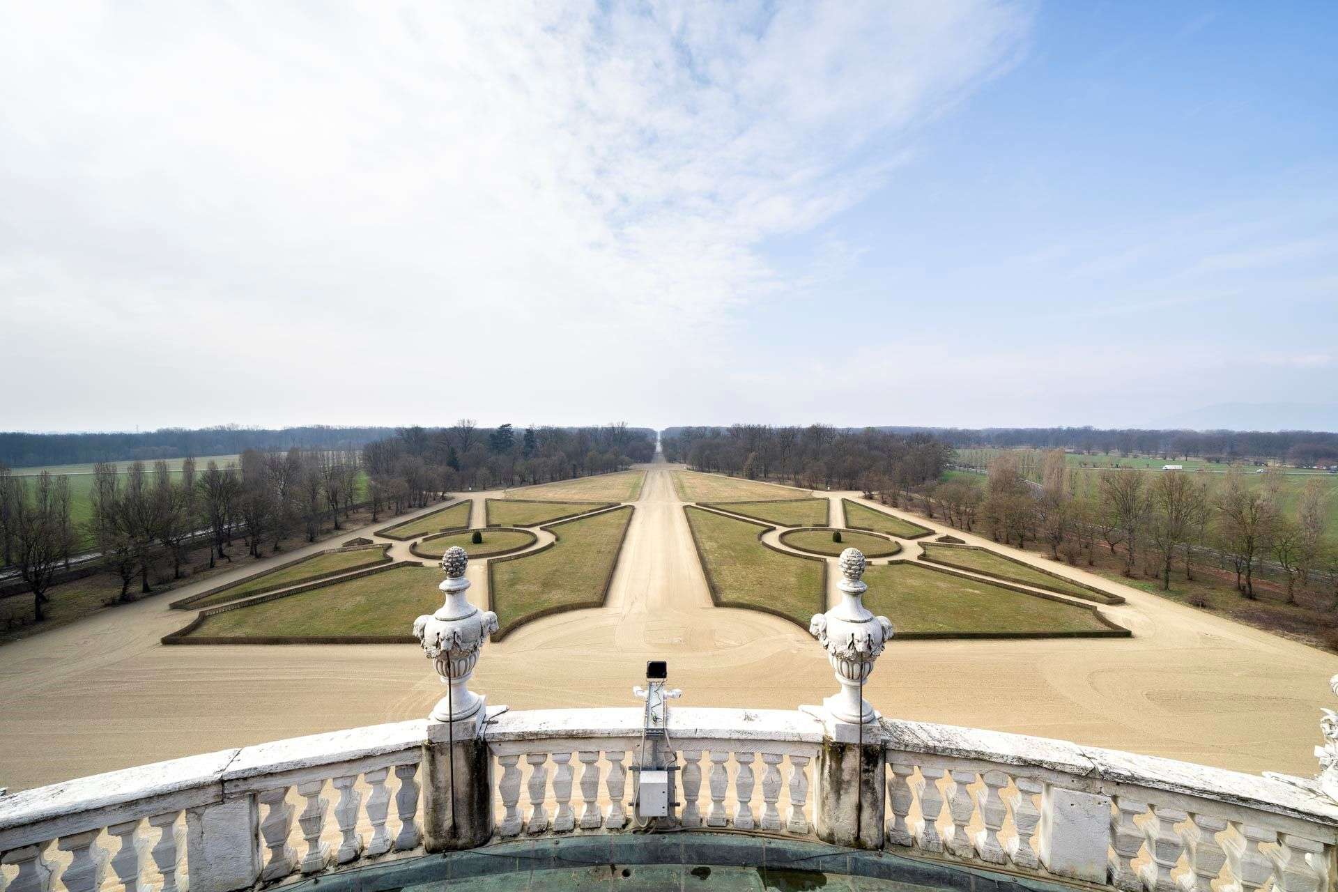
[[[630,686],[642,678],[644,662],[666,658],[682,705],[788,709],[832,693],[831,669],[805,630],[712,604],[670,465],[645,467],[607,604],[539,619],[490,645],[472,687],[490,703],[520,709],[634,705]],[[502,493],[472,497],[490,495]],[[842,516],[842,496],[856,497],[822,495],[832,500],[832,518]],[[479,526],[480,501],[476,508]],[[903,544],[902,556],[918,554],[915,543]],[[396,556],[407,555],[400,548]],[[246,564],[235,576],[262,566]],[[866,695],[887,715],[1250,772],[1315,772],[1311,748],[1319,742],[1319,707],[1334,705],[1327,679],[1338,657],[1081,571],[1061,572],[1124,595],[1125,604],[1101,610],[1133,638],[894,641]],[[482,562],[471,564],[470,579],[471,598],[483,603]],[[23,789],[413,718],[440,695],[429,663],[411,645],[159,645],[190,618],[169,610],[169,600],[191,592],[102,611],[0,647],[0,785]]]

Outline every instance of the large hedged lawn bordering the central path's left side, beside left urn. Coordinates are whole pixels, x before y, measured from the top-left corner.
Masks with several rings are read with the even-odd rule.
[[[500,633],[539,614],[602,603],[630,520],[632,508],[624,507],[562,523],[553,528],[558,542],[551,548],[488,563]]]

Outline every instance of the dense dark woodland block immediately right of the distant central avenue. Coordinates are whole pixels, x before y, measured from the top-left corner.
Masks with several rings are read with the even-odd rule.
[[[953,456],[950,445],[927,433],[902,436],[827,424],[669,428],[661,445],[668,461],[684,461],[696,471],[864,492],[909,493],[937,480]]]

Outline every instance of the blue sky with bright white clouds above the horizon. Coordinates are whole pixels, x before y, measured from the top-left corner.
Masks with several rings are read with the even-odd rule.
[[[1331,3],[5,4],[0,429],[1311,427],[1335,40]]]

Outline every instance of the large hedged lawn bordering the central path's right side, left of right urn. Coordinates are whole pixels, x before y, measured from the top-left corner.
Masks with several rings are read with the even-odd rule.
[[[783,555],[761,544],[761,526],[686,506],[688,526],[702,558],[712,595],[725,606],[779,612],[803,627],[827,608],[826,564]]]

